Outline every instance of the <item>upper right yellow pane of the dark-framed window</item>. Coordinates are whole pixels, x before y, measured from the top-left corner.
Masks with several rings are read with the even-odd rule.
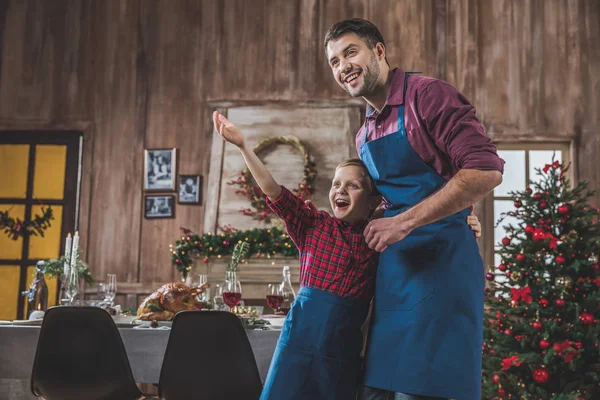
[[[67,146],[37,145],[33,171],[33,197],[62,199],[65,190],[66,166]]]

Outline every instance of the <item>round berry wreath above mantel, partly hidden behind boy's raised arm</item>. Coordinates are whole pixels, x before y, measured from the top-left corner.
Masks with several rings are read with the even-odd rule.
[[[256,146],[254,146],[254,152],[258,154],[268,149],[269,147],[272,147],[277,144],[285,144],[292,146],[302,154],[302,157],[304,158],[304,175],[300,180],[298,187],[296,189],[293,189],[292,192],[294,192],[294,194],[296,194],[302,200],[310,198],[314,192],[314,182],[317,176],[317,171],[315,169],[315,163],[310,159],[308,151],[297,137],[269,137],[259,142]],[[235,191],[236,194],[242,195],[248,198],[248,200],[250,200],[250,204],[254,209],[243,208],[240,210],[242,214],[256,217],[259,221],[270,220],[270,217],[272,216],[272,211],[267,206],[265,196],[260,187],[254,182],[254,179],[252,178],[252,174],[250,173],[248,167],[245,167],[242,170],[238,179],[227,182],[227,184],[239,186],[240,188]]]

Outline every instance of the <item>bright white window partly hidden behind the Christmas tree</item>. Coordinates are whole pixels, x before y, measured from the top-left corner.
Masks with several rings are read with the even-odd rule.
[[[500,215],[514,210],[513,200],[509,195],[512,191],[522,191],[530,186],[530,181],[539,179],[535,169],[550,164],[552,157],[559,162],[568,164],[571,161],[571,144],[569,142],[528,142],[528,143],[498,143],[498,155],[506,161],[502,184],[496,187],[486,201],[485,221],[489,227],[484,232],[484,261],[486,265],[499,265],[502,261],[497,253],[502,238],[506,236],[504,226],[515,224],[513,217],[505,218],[501,224],[494,227]],[[572,179],[573,169],[569,170]],[[503,282],[506,277],[496,270],[496,280]]]

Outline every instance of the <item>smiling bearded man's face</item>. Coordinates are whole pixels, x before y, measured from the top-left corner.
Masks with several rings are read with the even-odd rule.
[[[355,33],[327,43],[327,59],[335,81],[352,97],[368,96],[377,86],[377,56]]]

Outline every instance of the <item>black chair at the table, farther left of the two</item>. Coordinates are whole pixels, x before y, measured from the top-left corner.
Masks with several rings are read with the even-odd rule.
[[[142,398],[121,335],[97,307],[53,307],[44,316],[31,391],[46,400]]]

